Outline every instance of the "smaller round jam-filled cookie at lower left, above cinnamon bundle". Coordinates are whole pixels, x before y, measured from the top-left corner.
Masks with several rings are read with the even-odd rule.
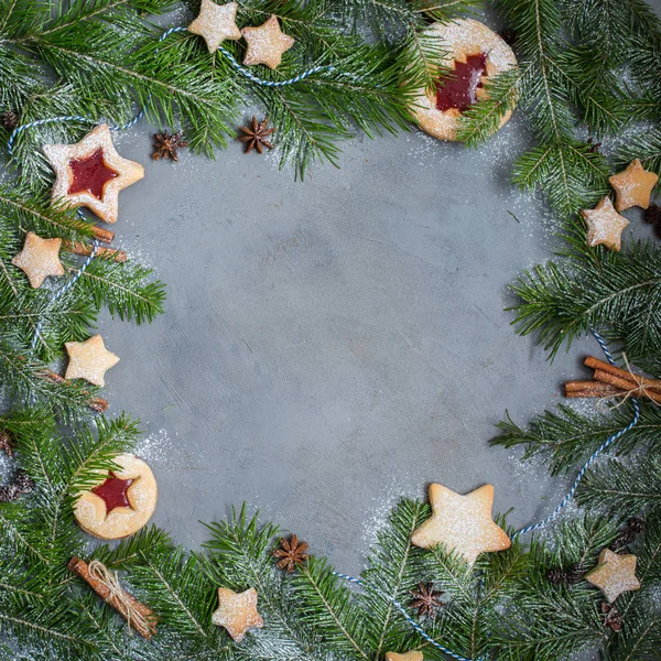
[[[133,455],[119,455],[118,470],[102,470],[99,481],[83,491],[74,516],[85,532],[102,540],[117,540],[138,532],[156,508],[159,489],[151,468]]]

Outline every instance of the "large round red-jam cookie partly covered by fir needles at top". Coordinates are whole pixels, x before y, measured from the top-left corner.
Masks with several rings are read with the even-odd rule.
[[[492,30],[473,19],[433,23],[423,31],[444,53],[440,64],[452,74],[438,80],[435,89],[420,89],[412,107],[420,128],[440,140],[457,140],[463,112],[488,98],[485,82],[517,65],[508,44]],[[511,117],[502,116],[502,127]]]

